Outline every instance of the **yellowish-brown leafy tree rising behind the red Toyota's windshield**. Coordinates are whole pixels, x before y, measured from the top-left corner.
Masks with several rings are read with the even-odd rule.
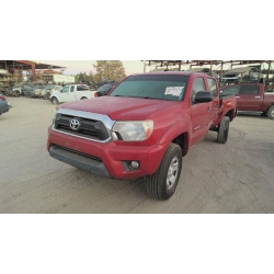
[[[118,60],[96,61],[96,65],[93,65],[93,67],[96,70],[94,76],[96,82],[101,82],[103,80],[121,81],[126,77],[123,62]]]

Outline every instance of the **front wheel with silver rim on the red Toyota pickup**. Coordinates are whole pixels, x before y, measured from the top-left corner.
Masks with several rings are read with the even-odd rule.
[[[181,148],[173,142],[170,144],[157,172],[145,178],[148,195],[156,199],[169,199],[176,190],[182,161]]]

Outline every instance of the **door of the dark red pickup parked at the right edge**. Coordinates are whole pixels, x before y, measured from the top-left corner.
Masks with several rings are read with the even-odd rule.
[[[259,84],[240,85],[239,96],[241,101],[240,111],[260,111],[263,98],[260,95]]]

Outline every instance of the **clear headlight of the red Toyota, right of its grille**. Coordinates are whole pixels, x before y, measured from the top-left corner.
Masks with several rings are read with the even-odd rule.
[[[153,132],[153,121],[116,122],[112,129],[124,141],[141,141],[150,137]]]

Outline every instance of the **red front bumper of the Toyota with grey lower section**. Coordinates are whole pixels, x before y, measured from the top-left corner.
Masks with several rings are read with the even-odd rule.
[[[53,158],[90,173],[114,179],[133,179],[155,173],[169,146],[96,142],[54,132],[52,126],[48,133],[47,149]],[[125,167],[128,161],[138,161],[139,169],[128,170]]]

